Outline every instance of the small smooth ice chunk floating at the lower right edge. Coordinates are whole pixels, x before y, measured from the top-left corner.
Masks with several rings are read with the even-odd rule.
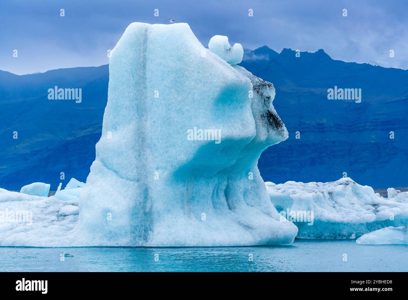
[[[408,227],[386,227],[360,236],[357,244],[408,244]]]

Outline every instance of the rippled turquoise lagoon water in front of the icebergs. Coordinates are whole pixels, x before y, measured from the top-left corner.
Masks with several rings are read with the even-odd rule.
[[[0,271],[408,271],[407,251],[408,245],[359,245],[355,240],[295,240],[265,247],[0,247]],[[63,252],[73,257],[61,261]]]

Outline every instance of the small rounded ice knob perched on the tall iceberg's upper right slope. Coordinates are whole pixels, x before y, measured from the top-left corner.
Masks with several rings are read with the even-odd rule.
[[[208,43],[208,49],[220,56],[228,64],[239,64],[244,57],[244,49],[241,44],[235,43],[231,47],[228,36],[213,36]]]

